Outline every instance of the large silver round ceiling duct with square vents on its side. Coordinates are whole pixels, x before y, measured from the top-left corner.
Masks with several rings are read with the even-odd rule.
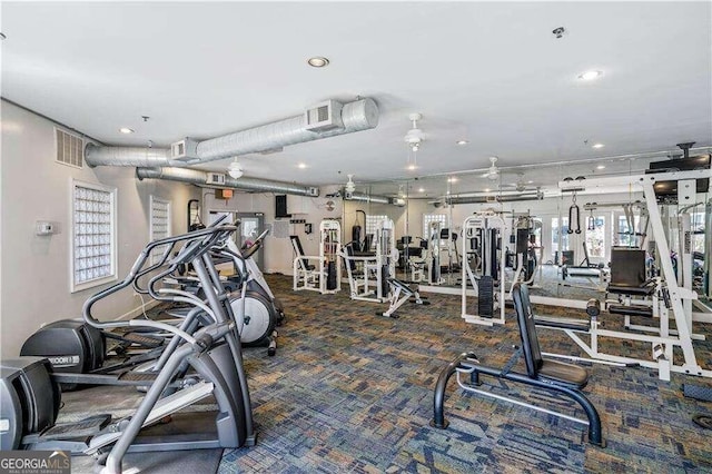
[[[337,108],[334,113],[339,113]],[[85,161],[91,167],[186,167],[240,155],[269,152],[289,145],[367,130],[378,125],[378,107],[370,98],[344,103],[340,107],[340,120],[335,120],[338,127],[328,131],[310,131],[307,116],[308,113],[303,113],[260,127],[204,140],[197,142],[197,145],[192,142],[196,145],[195,147],[186,147],[190,148],[190,152],[185,148],[179,148],[181,155],[177,156],[174,156],[175,150],[171,151],[171,149],[165,148],[101,147],[90,144],[85,150]],[[189,142],[189,140],[185,141]],[[178,156],[180,159],[175,159]]]

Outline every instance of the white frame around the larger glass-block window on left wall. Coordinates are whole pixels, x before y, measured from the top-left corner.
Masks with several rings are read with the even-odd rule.
[[[109,228],[110,228],[110,273],[107,276],[89,279],[86,282],[77,283],[75,277],[75,267],[77,264],[76,245],[77,238],[77,221],[75,213],[76,192],[77,188],[86,188],[95,191],[107,192],[109,195]],[[118,190],[113,186],[106,186],[97,182],[88,182],[79,179],[71,178],[69,186],[69,223],[70,223],[70,238],[69,238],[69,292],[78,293],[85,289],[93,288],[107,283],[116,282],[118,279],[118,246],[117,246],[117,220],[118,220]]]

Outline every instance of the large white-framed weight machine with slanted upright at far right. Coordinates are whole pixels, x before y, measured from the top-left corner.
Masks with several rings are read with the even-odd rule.
[[[670,381],[670,374],[673,372],[712,377],[712,371],[702,368],[698,363],[694,353],[693,339],[698,337],[693,337],[694,335],[692,334],[692,302],[698,299],[698,295],[691,289],[691,282],[689,284],[688,280],[683,280],[682,285],[678,283],[678,276],[675,275],[673,263],[670,258],[671,248],[665,235],[665,226],[663,225],[661,211],[657,207],[655,194],[656,184],[674,180],[678,182],[678,201],[694,203],[695,181],[705,178],[709,179],[709,169],[695,169],[690,171],[655,172],[649,175],[586,179],[583,182],[577,182],[576,185],[585,186],[586,188],[632,185],[633,187],[637,187],[643,190],[650,216],[650,228],[652,230],[652,238],[650,240],[654,244],[653,248],[656,250],[657,261],[661,269],[661,276],[655,282],[653,294],[653,306],[655,308],[642,312],[637,308],[629,310],[623,306],[617,307],[614,310],[609,308],[609,310],[611,313],[625,316],[649,316],[651,318],[654,316],[653,312],[656,310],[660,316],[660,326],[650,326],[647,330],[640,332],[610,330],[603,328],[603,325],[597,319],[596,315],[591,315],[591,318],[587,322],[570,318],[551,318],[551,320],[540,319],[537,320],[537,325],[541,327],[560,329],[566,333],[566,335],[568,335],[584,350],[584,353],[591,357],[586,361],[603,361],[604,363],[626,366],[640,365],[643,367],[654,368],[659,372],[659,377],[662,381]],[[565,190],[572,186],[572,182],[561,181],[558,186]],[[684,247],[686,240],[682,240],[682,243]],[[670,319],[674,320],[674,330],[669,328]],[[640,327],[632,326],[629,326],[629,328],[640,329]],[[589,342],[584,340],[580,335],[587,335]],[[601,353],[599,350],[600,337],[646,343],[650,345],[651,358],[640,359],[629,356]],[[674,348],[679,348],[682,353],[683,363],[681,365],[675,364],[675,359],[673,357]],[[568,359],[578,359],[577,357],[572,356],[550,355]]]

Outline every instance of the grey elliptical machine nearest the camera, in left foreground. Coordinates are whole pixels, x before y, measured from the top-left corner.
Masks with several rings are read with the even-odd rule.
[[[85,322],[97,329],[122,327],[149,327],[172,335],[175,350],[156,374],[146,396],[129,417],[112,421],[110,415],[98,415],[78,423],[56,425],[61,405],[58,382],[68,374],[53,374],[48,359],[24,357],[0,364],[0,418],[9,429],[0,432],[1,450],[69,450],[85,454],[100,454],[113,445],[106,458],[103,473],[121,472],[121,461],[129,448],[137,451],[192,450],[214,447],[240,447],[254,445],[251,403],[247,377],[243,367],[241,345],[230,306],[224,304],[227,295],[208,250],[235,231],[236,226],[220,226],[187,235],[155,240],[144,249],[127,277],[93,295],[82,309]],[[176,241],[187,241],[172,258],[169,253]],[[191,302],[212,317],[212,324],[189,334],[182,328],[148,319],[100,322],[92,316],[93,305],[136,283],[142,273],[150,251],[165,245],[161,261],[150,267],[159,274],[151,278],[148,290],[161,300]],[[184,292],[158,289],[162,276],[176,271],[179,265],[190,261],[206,289],[206,303],[191,298]],[[167,266],[165,271],[160,267]],[[187,379],[179,389],[171,389],[178,374],[190,367],[197,376]],[[69,374],[70,375],[70,374]],[[142,382],[146,385],[146,381]],[[175,387],[174,387],[175,388]],[[212,395],[217,413],[176,413]],[[171,415],[168,432],[145,440],[139,432],[157,421]],[[178,417],[189,417],[177,423]],[[181,432],[180,426],[188,428]],[[157,427],[152,427],[155,429]]]

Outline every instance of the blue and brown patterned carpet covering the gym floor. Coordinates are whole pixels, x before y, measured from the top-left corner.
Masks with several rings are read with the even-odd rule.
[[[255,447],[226,452],[220,473],[712,472],[712,432],[691,422],[695,413],[712,413],[712,404],[681,391],[685,382],[710,381],[673,374],[666,383],[644,368],[591,367],[586,393],[601,414],[606,448],[582,442],[582,425],[464,394],[454,382],[445,404],[451,426],[436,429],[428,422],[439,372],[469,350],[502,367],[518,343],[514,319],[505,327],[466,324],[459,298],[442,295],[428,295],[431,306],[405,305],[390,319],[375,315],[384,305],[353,302],[346,290],[293,293],[290,278],[268,279],[288,322],[275,357],[246,349],[259,438]],[[540,339],[544,350],[576,354],[557,332],[540,330]],[[700,363],[712,366],[712,346],[700,346]],[[649,353],[626,342],[616,350]],[[583,416],[546,393],[483,381],[497,393]]]

